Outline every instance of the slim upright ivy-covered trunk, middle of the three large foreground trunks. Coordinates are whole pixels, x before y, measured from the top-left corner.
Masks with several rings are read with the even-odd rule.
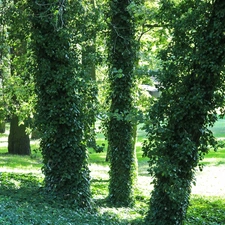
[[[136,179],[133,146],[132,87],[134,85],[134,24],[129,0],[110,1],[109,81],[111,102],[108,122],[110,158],[109,200],[119,206],[131,205]]]

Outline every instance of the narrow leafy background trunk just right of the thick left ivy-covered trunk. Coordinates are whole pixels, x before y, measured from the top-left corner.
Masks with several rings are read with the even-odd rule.
[[[98,65],[98,53],[96,51],[97,33],[100,29],[100,10],[95,0],[83,1],[83,17],[76,18],[76,27],[80,29],[82,51],[82,79],[85,80],[85,89],[82,90],[86,103],[83,107],[85,114],[89,115],[89,121],[85,123],[85,140],[88,147],[98,150],[95,141],[95,120],[98,109],[98,87],[96,82],[96,66]]]

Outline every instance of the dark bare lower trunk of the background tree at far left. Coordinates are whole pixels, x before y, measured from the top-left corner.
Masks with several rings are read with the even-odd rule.
[[[17,155],[30,155],[30,138],[26,133],[26,126],[19,125],[18,116],[13,116],[10,122],[8,136],[8,153]]]

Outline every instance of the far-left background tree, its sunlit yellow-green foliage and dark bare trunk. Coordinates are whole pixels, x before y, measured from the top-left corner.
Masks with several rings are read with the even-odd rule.
[[[8,151],[11,154],[29,155],[30,142],[26,128],[35,104],[29,45],[30,21],[27,19],[26,1],[5,0],[2,4],[4,23],[1,33],[4,36],[4,54],[1,85],[4,115],[12,120]]]

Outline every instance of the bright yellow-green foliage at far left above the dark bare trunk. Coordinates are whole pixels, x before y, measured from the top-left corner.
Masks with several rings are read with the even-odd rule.
[[[26,1],[1,1],[1,87],[5,115],[24,122],[33,115],[35,104],[30,49],[30,20]]]

